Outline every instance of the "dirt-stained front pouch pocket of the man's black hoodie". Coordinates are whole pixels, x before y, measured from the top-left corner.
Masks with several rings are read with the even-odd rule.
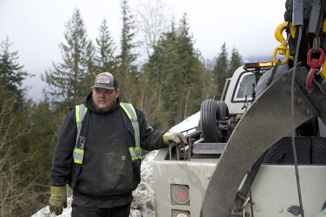
[[[77,191],[92,196],[129,193],[137,184],[127,152],[101,153],[94,154],[80,174]]]

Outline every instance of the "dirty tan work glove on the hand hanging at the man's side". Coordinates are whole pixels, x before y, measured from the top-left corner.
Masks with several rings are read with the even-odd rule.
[[[67,187],[51,186],[50,192],[50,213],[54,212],[56,216],[59,216],[62,214],[63,208],[67,208]]]

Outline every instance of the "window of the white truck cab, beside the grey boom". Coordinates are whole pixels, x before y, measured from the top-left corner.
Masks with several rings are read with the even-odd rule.
[[[256,84],[255,75],[251,72],[243,73],[237,83],[236,92],[234,95],[234,101],[244,101],[246,94],[247,99],[252,99],[252,85]]]

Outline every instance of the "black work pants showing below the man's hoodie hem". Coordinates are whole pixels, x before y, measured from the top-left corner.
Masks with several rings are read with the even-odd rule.
[[[129,217],[131,202],[112,208],[82,207],[72,204],[72,217]]]

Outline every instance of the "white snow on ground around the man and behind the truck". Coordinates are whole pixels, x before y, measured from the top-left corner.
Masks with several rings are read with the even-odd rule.
[[[188,117],[170,129],[171,132],[180,132],[198,125],[200,112]],[[132,193],[134,199],[131,203],[129,217],[153,217],[154,214],[154,186],[153,186],[153,159],[157,151],[151,151],[142,158],[141,177],[142,181]],[[59,217],[71,217],[71,202],[73,197],[67,198],[68,207],[63,210]],[[49,206],[40,209],[32,217],[56,217],[50,213]]]

